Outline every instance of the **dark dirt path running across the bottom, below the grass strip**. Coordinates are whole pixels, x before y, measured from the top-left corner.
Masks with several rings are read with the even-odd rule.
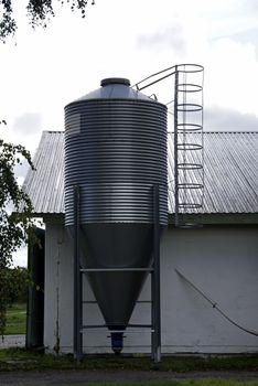
[[[47,372],[18,372],[0,373],[0,385],[68,385],[80,383],[116,383],[116,382],[149,382],[153,380],[183,380],[183,379],[239,379],[239,380],[258,380],[258,372],[141,372],[141,371],[47,371]]]

